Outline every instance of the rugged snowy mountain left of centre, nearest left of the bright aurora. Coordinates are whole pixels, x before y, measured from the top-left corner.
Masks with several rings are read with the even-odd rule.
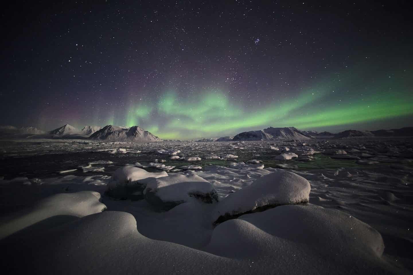
[[[139,126],[133,126],[127,129],[107,125],[99,131],[93,133],[90,139],[101,139],[105,141],[162,141],[159,137],[154,136]]]

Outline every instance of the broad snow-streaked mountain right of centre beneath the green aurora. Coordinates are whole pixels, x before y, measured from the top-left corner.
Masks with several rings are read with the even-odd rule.
[[[274,128],[269,127],[258,131],[242,132],[234,136],[234,141],[276,140],[276,139],[311,139],[311,136],[295,127]]]

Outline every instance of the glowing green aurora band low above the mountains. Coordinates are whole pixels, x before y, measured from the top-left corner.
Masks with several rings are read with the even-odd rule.
[[[283,95],[261,104],[242,103],[218,89],[201,91],[192,98],[170,90],[156,103],[130,101],[123,119],[111,115],[106,123],[140,125],[162,139],[235,135],[269,126],[302,130],[368,127],[370,123],[413,115],[412,96],[406,97],[412,94],[411,86],[400,84],[404,76],[382,78],[367,87],[354,75],[347,79],[333,76],[330,82],[302,89],[296,96]]]

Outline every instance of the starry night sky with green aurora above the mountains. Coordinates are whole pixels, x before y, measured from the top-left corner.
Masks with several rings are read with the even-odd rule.
[[[413,126],[408,1],[90,2],[4,7],[0,125]]]

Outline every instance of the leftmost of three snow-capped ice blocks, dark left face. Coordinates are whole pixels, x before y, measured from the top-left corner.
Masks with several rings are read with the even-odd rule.
[[[123,166],[114,172],[112,178],[109,180],[106,192],[109,196],[116,199],[138,199],[140,197],[135,197],[133,194],[142,192],[145,189],[146,184],[142,183],[142,179],[164,176],[168,176],[164,171],[151,173],[138,167]]]

